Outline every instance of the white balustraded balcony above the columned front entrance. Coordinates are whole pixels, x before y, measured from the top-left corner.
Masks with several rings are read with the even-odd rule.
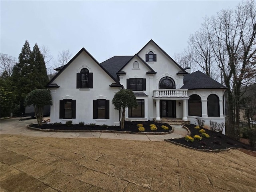
[[[156,98],[178,98],[188,97],[187,89],[156,89],[153,90],[153,97]]]

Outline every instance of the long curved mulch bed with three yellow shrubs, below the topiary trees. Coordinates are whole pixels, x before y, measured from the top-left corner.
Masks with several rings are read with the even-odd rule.
[[[106,124],[96,125],[94,123],[82,124],[43,124],[38,126],[37,124],[31,124],[30,126],[41,129],[51,130],[113,130],[113,131],[130,131],[130,132],[169,132],[172,127],[169,124],[157,123],[154,121],[126,121],[124,129],[120,126],[108,126]],[[143,129],[144,128],[144,129]]]

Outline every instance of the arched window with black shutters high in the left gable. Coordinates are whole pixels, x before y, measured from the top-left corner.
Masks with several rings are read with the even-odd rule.
[[[92,73],[87,68],[83,68],[76,74],[76,88],[92,88]]]

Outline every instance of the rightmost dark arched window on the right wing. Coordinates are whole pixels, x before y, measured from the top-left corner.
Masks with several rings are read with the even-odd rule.
[[[220,116],[220,101],[219,97],[215,94],[210,94],[207,98],[207,112],[208,117]]]

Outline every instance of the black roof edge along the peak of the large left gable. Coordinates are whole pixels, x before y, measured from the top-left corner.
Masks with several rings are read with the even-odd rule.
[[[98,64],[98,66],[100,66],[100,68],[102,68],[104,70],[104,72],[106,72],[106,74],[108,74],[108,76],[110,76],[114,82],[116,82],[117,84],[120,84],[115,78],[112,77],[112,75],[105,69],[103,68],[99,62],[88,52],[86,51],[85,48],[82,48],[66,65],[59,67],[60,71],[50,80],[50,82],[48,82],[48,84],[46,84],[46,87],[49,87],[52,82],[82,53],[82,52],[86,52],[86,54],[88,54],[88,56],[90,56],[90,58],[92,58],[92,60],[94,60],[94,62],[96,62],[96,64]],[[58,68],[56,68],[58,69]]]

